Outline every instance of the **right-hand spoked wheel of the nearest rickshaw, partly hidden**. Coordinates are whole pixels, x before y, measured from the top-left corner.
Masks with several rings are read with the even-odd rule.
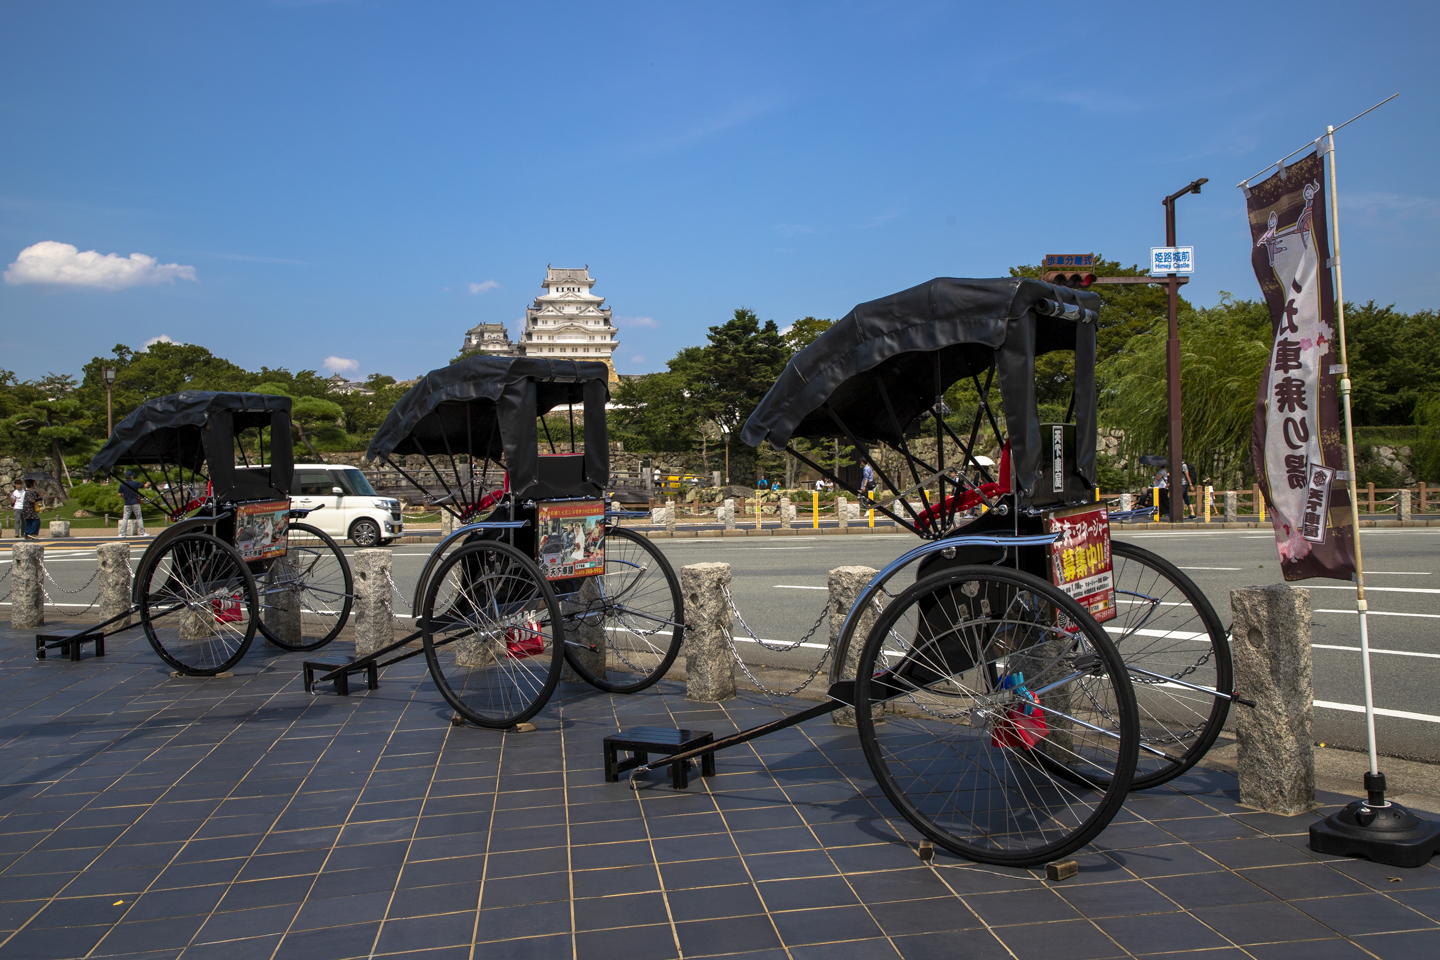
[[[1140,750],[1132,790],[1155,787],[1195,766],[1215,743],[1234,678],[1220,617],[1195,583],[1169,560],[1112,541],[1117,615],[1104,623],[1130,668],[1140,711]]]

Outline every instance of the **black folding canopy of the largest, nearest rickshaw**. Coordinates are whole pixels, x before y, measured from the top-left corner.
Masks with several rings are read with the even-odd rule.
[[[1017,276],[936,278],[857,305],[795,354],[740,439],[785,449],[795,438],[901,446],[910,425],[959,380],[991,367],[1005,404],[1011,474],[1028,495],[1044,446],[1035,357],[1076,356],[1076,469],[1096,482],[1094,351],[1099,295]]]

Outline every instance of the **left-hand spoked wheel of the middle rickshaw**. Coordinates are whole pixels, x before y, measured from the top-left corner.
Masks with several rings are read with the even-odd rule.
[[[514,727],[550,699],[564,662],[560,607],[539,567],[514,547],[467,544],[425,589],[425,659],[441,694],[481,727]]]

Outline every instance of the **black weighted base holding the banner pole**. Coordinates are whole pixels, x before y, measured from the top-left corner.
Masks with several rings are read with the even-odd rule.
[[[1310,849],[1333,856],[1364,856],[1387,866],[1424,866],[1440,853],[1440,823],[1385,800],[1385,774],[1365,774],[1367,800],[1310,825]]]

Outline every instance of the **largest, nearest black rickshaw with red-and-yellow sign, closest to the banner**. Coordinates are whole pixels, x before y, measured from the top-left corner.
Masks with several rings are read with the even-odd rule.
[[[847,445],[894,492],[871,505],[924,543],[857,597],[825,702],[635,774],[851,708],[871,771],[923,836],[1030,866],[1099,835],[1132,784],[1198,760],[1238,699],[1225,633],[1172,564],[1112,544],[1093,502],[1099,308],[1028,278],[939,278],[855,307],[791,360],[742,439],[861,495],[801,440]],[[1071,410],[1041,423],[1035,358],[1056,350],[1074,354]],[[966,436],[946,419],[958,383],[978,397]]]

